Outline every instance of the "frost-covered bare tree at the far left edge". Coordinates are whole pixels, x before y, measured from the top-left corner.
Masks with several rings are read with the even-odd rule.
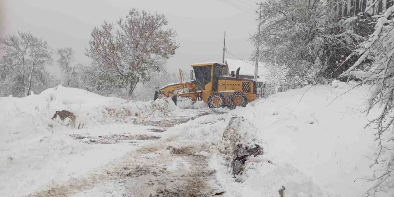
[[[7,77],[12,78],[14,94],[27,96],[34,85],[45,84],[48,76],[45,66],[52,62],[46,41],[30,32],[17,32],[0,39],[0,44],[5,51],[2,67],[10,72]]]

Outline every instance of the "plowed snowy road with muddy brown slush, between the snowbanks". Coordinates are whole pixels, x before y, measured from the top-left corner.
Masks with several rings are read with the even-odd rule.
[[[183,109],[181,113],[187,115],[144,119],[135,124],[114,123],[82,130],[64,130],[63,136],[56,134],[59,136],[58,140],[55,135],[41,136],[41,139],[50,139],[50,144],[45,145],[48,151],[64,149],[71,144],[79,144],[85,147],[85,150],[70,152],[61,160],[54,159],[53,162],[48,162],[45,156],[42,164],[38,160],[26,161],[26,164],[35,163],[37,168],[26,167],[24,172],[16,169],[7,171],[10,174],[6,176],[13,177],[13,180],[16,177],[12,172],[23,176],[20,176],[19,181],[15,181],[19,183],[17,185],[14,181],[9,182],[9,185],[4,182],[4,189],[1,191],[6,193],[0,195],[170,197],[212,196],[220,193],[214,170],[208,167],[212,147],[204,142],[182,143],[177,140],[176,134],[167,135],[160,140],[152,137],[160,138],[165,132],[171,133],[171,130],[177,132],[179,129],[174,129],[173,126],[184,124],[193,125],[195,131],[190,132],[198,132],[201,128],[217,124],[217,119],[223,112]],[[209,119],[201,117],[209,113],[215,115]],[[137,138],[130,140],[132,137]],[[65,143],[65,139],[69,142]],[[32,143],[36,140],[28,141]],[[44,140],[41,140],[40,143],[43,142]],[[52,146],[57,143],[63,143],[63,146]],[[35,143],[26,145],[19,151],[26,152],[28,149],[37,148],[33,144]],[[45,152],[42,146],[38,149]],[[37,151],[32,153],[34,155],[31,156],[40,156]],[[29,183],[25,182],[29,180],[26,177],[30,178]],[[30,188],[23,188],[26,185],[30,185]]]

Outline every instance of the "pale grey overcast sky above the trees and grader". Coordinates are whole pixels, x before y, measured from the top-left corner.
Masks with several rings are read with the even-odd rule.
[[[243,11],[223,1],[242,5]],[[180,48],[167,68],[188,70],[192,63],[221,61],[223,33],[227,50],[249,59],[256,31],[257,0],[0,0],[0,36],[17,30],[43,37],[53,48],[71,46],[76,63],[89,64],[84,55],[91,30],[103,20],[115,22],[131,8],[163,13],[177,32]],[[248,5],[249,4],[249,5]],[[234,58],[226,54],[226,58]]]

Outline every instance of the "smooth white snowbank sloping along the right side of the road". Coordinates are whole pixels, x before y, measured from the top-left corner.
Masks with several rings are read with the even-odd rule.
[[[368,120],[362,113],[370,86],[340,96],[355,85],[335,81],[313,86],[306,93],[310,86],[291,89],[230,112],[256,125],[264,154],[249,158],[242,182],[228,184],[227,190],[234,196],[279,196],[283,186],[284,196],[348,197],[362,196],[372,188],[373,182],[357,179],[371,177],[376,169],[370,168],[373,161],[369,159],[377,148],[375,130],[364,128]],[[222,157],[212,165],[223,182],[233,180],[229,169],[223,170]],[[391,188],[379,196],[393,193]]]

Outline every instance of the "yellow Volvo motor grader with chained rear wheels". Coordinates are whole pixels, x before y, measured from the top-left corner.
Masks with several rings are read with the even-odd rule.
[[[154,93],[154,100],[159,96],[172,97],[177,102],[177,97],[189,97],[193,102],[203,100],[210,108],[237,106],[245,107],[248,102],[256,99],[256,82],[239,77],[237,73],[229,74],[226,64],[198,63],[191,65],[191,80],[184,81],[182,71],[179,69],[180,83],[168,84]],[[194,77],[195,76],[195,77]]]

